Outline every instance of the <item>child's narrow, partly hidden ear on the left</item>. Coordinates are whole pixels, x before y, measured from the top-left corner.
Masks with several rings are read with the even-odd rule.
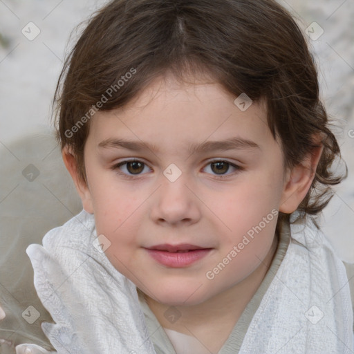
[[[71,153],[70,149],[64,147],[62,151],[62,157],[66,169],[69,171],[69,174],[71,174],[71,178],[73,178],[77,193],[80,195],[84,209],[86,210],[86,212],[93,214],[91,192],[90,189],[88,189],[88,185],[86,184],[86,182],[82,180],[82,178],[80,178],[79,174],[77,174],[75,156],[73,155],[73,153]]]

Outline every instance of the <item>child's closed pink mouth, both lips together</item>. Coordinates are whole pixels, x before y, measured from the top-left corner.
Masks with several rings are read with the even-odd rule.
[[[187,267],[201,260],[212,250],[188,243],[153,245],[145,249],[155,261],[169,268]]]

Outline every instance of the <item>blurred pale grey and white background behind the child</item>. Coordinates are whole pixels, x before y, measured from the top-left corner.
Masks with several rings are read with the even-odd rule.
[[[68,44],[73,28],[104,2],[0,0],[0,215],[8,225],[1,239],[26,235],[39,243],[80,211],[53,139],[51,101],[64,57],[80,33],[73,32]],[[354,263],[354,1],[279,3],[297,17],[317,59],[322,100],[348,165],[348,178],[321,223],[339,257]]]

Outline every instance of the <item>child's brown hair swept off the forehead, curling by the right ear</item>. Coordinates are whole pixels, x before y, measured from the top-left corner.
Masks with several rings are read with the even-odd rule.
[[[167,72],[181,81],[204,73],[235,97],[264,99],[286,167],[299,164],[315,147],[314,137],[322,137],[315,179],[298,210],[317,214],[326,206],[330,185],[342,180],[330,171],[339,146],[304,35],[272,0],[115,0],[95,13],[55,93],[57,137],[73,151],[82,180],[95,110],[124,106]]]

